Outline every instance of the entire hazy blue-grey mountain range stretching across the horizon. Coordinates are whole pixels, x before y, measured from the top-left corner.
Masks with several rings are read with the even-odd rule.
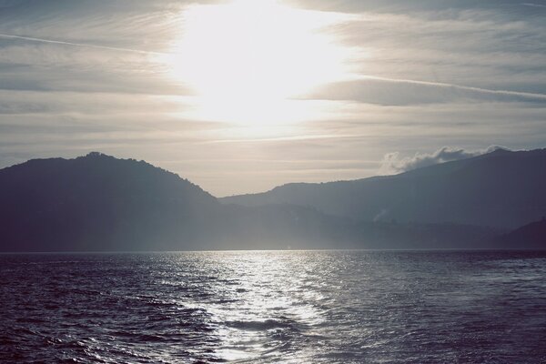
[[[0,251],[546,247],[503,235],[545,215],[545,161],[497,151],[220,203],[144,161],[35,159],[0,170]]]

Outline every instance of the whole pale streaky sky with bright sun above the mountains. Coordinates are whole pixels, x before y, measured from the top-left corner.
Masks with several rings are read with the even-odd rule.
[[[546,147],[546,1],[0,0],[0,167],[217,197]]]

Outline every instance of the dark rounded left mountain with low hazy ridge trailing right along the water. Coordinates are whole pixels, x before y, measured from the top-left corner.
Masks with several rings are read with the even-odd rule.
[[[223,205],[144,161],[90,153],[0,169],[0,251],[484,248],[499,231]]]

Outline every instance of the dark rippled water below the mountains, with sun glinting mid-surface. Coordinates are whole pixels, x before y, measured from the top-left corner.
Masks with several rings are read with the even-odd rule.
[[[0,359],[546,362],[546,253],[0,256]]]

